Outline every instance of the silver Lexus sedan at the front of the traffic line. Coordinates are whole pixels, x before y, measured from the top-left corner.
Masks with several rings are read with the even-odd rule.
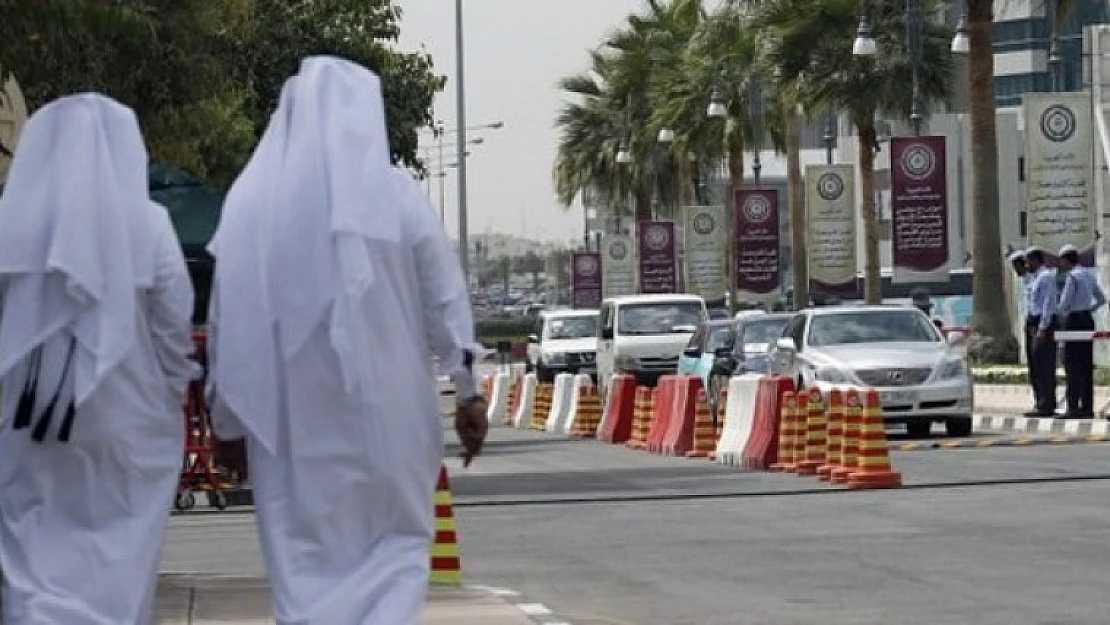
[[[940,422],[949,435],[971,433],[973,384],[967,356],[921,311],[864,305],[794,314],[771,354],[774,371],[799,387],[875,389],[882,419],[911,436]]]

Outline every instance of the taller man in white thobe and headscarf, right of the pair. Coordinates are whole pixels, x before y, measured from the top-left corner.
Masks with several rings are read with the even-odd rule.
[[[246,438],[278,623],[414,625],[443,454],[432,356],[467,399],[468,458],[483,350],[437,215],[390,164],[376,75],[303,61],[210,251],[213,426]]]

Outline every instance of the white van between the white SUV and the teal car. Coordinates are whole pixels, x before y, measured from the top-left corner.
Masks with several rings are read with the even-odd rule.
[[[675,373],[690,336],[708,319],[697,295],[629,295],[602,302],[597,324],[597,377],[607,389],[614,373],[655,384]],[[603,394],[604,396],[604,394]]]

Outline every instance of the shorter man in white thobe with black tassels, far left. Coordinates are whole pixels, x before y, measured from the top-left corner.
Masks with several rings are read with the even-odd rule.
[[[6,625],[147,625],[181,472],[193,290],[130,109],[28,121],[0,198]]]

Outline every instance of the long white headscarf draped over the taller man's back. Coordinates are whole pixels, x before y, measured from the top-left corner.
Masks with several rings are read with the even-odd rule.
[[[270,450],[273,363],[293,356],[322,321],[346,390],[370,399],[361,300],[374,280],[367,241],[401,238],[391,175],[379,78],[342,59],[302,61],[228,193],[209,246],[216,259],[219,393]]]

